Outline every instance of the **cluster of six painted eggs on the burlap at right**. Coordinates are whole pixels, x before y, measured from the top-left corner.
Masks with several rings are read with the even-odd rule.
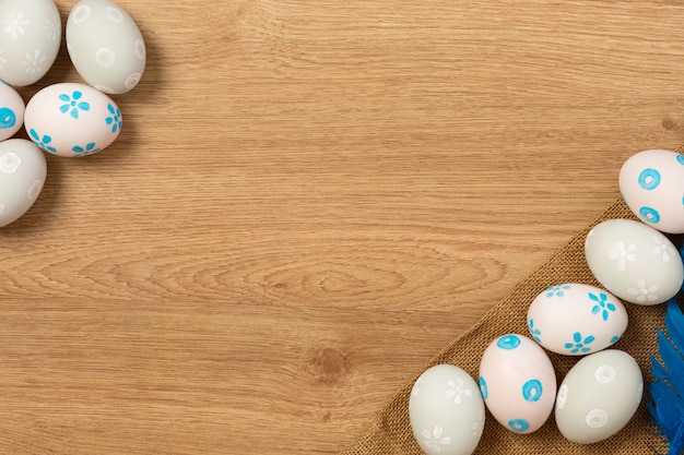
[[[505,334],[484,350],[477,381],[438,364],[414,383],[413,435],[426,454],[470,455],[482,436],[485,406],[508,430],[526,434],[554,412],[567,440],[592,444],[623,429],[644,395],[644,378],[627,352],[609,349],[627,330],[623,301],[652,306],[682,290],[682,254],[663,235],[684,234],[684,156],[637,153],[620,171],[620,189],[641,221],[610,219],[585,241],[587,265],[603,288],[554,284],[529,306],[529,336]],[[579,357],[561,385],[547,351]]]

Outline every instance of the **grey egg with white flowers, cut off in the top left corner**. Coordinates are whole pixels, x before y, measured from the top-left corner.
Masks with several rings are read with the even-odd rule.
[[[61,33],[52,0],[2,0],[0,79],[17,86],[39,81],[55,63]]]

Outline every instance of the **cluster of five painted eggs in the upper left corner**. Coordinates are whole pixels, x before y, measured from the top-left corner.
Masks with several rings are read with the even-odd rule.
[[[14,87],[38,82],[59,53],[62,23],[52,0],[0,2],[0,227],[36,201],[45,154],[82,157],[119,135],[122,116],[109,95],[138,85],[145,44],[131,16],[110,0],[82,0],[66,25],[67,50],[84,83],[39,89],[27,104]],[[30,141],[13,139],[24,127]]]

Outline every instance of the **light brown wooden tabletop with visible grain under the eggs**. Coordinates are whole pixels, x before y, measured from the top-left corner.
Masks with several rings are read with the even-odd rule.
[[[684,142],[684,1],[119,4],[123,132],[0,230],[3,454],[334,454]]]

